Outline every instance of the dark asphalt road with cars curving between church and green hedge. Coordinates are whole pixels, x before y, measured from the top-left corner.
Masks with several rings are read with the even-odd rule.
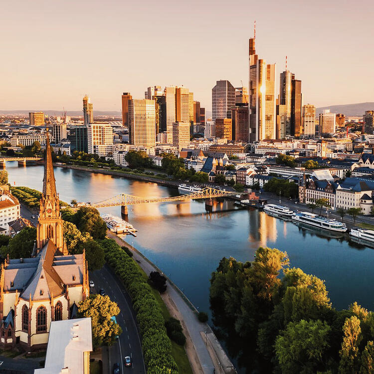
[[[103,288],[110,299],[115,301],[121,309],[121,313],[116,319],[123,333],[119,336],[117,342],[109,348],[109,362],[103,357],[104,373],[112,373],[114,363],[119,363],[121,374],[145,374],[142,346],[129,294],[107,265],[101,270],[90,272],[90,280],[95,283],[91,292],[97,293]],[[125,367],[125,356],[132,357],[132,367]]]

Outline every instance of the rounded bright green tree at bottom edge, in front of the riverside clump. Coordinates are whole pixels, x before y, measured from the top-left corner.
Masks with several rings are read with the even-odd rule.
[[[329,347],[326,322],[290,322],[275,341],[275,354],[284,374],[317,373]]]

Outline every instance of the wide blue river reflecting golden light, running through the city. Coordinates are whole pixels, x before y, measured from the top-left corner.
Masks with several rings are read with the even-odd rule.
[[[18,167],[8,162],[9,183],[41,190],[43,166]],[[72,169],[55,168],[60,199],[97,202],[120,193],[167,197],[178,190]],[[232,201],[133,205],[129,221],[138,236],[127,241],[158,265],[200,310],[209,312],[209,278],[223,257],[251,261],[259,246],[287,251],[291,265],[326,281],[333,305],[347,308],[357,301],[374,309],[374,249],[347,240],[326,238],[257,210],[230,210]],[[120,215],[120,207],[100,209]]]

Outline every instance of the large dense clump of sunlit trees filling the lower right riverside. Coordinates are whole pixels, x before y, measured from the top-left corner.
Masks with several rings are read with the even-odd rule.
[[[248,372],[373,373],[374,313],[334,309],[325,282],[290,268],[286,252],[222,258],[210,284],[213,322]]]

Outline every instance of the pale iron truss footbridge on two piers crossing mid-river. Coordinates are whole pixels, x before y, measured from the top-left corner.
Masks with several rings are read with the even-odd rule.
[[[94,208],[105,208],[108,206],[121,206],[121,213],[128,214],[128,205],[134,204],[147,204],[152,202],[169,202],[169,201],[182,201],[182,200],[191,200],[191,199],[209,199],[207,202],[208,205],[212,204],[212,198],[214,197],[225,197],[232,196],[237,194],[237,192],[224,191],[220,189],[215,189],[212,187],[204,187],[198,192],[192,192],[184,195],[173,196],[173,197],[160,197],[160,198],[145,198],[139,196],[128,195],[126,193],[121,193],[120,195],[108,198],[106,200],[98,201],[89,206]]]

